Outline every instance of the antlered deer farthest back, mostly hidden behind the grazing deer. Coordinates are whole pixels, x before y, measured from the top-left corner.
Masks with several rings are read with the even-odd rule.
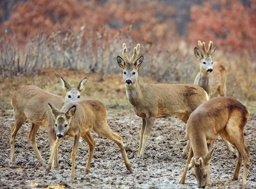
[[[212,55],[214,54],[216,47],[212,49],[213,43],[210,41],[208,50],[206,50],[205,43],[201,43],[200,40],[198,41],[198,46],[203,53],[195,47],[194,53],[195,57],[197,57],[200,62],[200,72],[195,77],[194,85],[201,86],[207,92],[209,99],[212,98],[216,89],[221,97],[225,97],[227,78],[226,69],[220,62],[212,62]],[[227,140],[224,138],[222,139],[231,156],[234,153],[232,146]]]

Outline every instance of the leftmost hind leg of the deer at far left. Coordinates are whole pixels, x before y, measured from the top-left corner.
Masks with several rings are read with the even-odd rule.
[[[26,121],[26,117],[24,115],[15,115],[15,123],[12,128],[12,134],[10,138],[10,144],[11,144],[11,163],[15,163],[15,138],[17,135],[17,132],[19,131],[22,124]]]

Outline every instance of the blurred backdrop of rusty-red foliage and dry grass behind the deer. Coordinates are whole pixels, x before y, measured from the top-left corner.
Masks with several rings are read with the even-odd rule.
[[[197,41],[217,47],[228,94],[256,100],[256,0],[1,0],[0,78],[44,67],[120,73],[137,43],[140,74],[193,83]]]

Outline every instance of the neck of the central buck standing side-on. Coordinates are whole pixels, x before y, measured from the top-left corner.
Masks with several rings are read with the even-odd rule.
[[[132,86],[129,86],[129,87],[125,86],[125,89],[126,89],[126,95],[131,105],[136,106],[136,104],[140,102],[140,99],[142,97],[141,85],[139,83],[139,79]]]

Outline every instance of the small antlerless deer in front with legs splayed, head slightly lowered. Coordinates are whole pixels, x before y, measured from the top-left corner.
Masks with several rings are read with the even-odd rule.
[[[52,160],[54,158],[55,152],[57,152],[58,145],[66,135],[69,135],[70,137],[74,138],[74,145],[71,154],[71,178],[75,177],[76,150],[80,136],[89,145],[88,161],[84,170],[84,173],[88,174],[90,169],[90,162],[93,157],[93,151],[96,145],[95,140],[90,134],[91,129],[93,129],[100,137],[106,137],[119,146],[122,152],[122,156],[125,160],[125,166],[130,172],[132,172],[131,164],[125,152],[125,145],[122,142],[122,137],[112,132],[108,126],[107,111],[103,103],[101,103],[99,100],[83,99],[64,105],[61,108],[61,111],[54,108],[50,104],[49,107],[52,110],[52,115],[55,119],[55,132],[57,139],[55,140],[51,152],[51,157],[47,164],[47,173],[49,173],[51,169]]]

